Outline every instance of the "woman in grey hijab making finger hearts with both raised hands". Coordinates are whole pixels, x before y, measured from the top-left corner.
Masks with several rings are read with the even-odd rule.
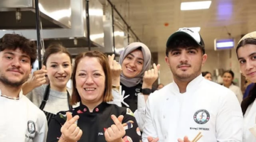
[[[113,60],[114,56],[109,56],[110,67],[118,70],[122,67],[122,72],[112,72],[113,89],[122,92],[122,96],[114,97],[114,101],[122,102],[119,106],[127,107],[134,112],[134,116],[139,124],[139,129],[143,128],[145,102],[151,92],[153,83],[158,77],[160,65],[151,65],[151,53],[144,43],[131,43],[120,55],[119,64]],[[120,80],[120,81],[119,81]],[[122,97],[122,98],[120,98]],[[118,103],[114,103],[118,104]]]

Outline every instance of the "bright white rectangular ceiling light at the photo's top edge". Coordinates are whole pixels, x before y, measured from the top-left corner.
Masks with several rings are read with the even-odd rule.
[[[182,2],[181,11],[209,9],[211,1]]]

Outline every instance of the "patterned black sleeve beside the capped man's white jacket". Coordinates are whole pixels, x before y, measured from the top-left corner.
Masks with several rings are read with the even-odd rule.
[[[133,121],[133,123],[132,123]],[[142,133],[139,130],[139,126],[135,117],[132,114],[132,111],[127,108],[126,114],[124,114],[124,119],[122,121],[124,129],[126,131],[125,136],[123,137],[124,142],[140,142],[142,141]]]

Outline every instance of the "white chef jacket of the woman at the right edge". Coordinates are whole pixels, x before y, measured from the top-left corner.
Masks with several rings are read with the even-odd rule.
[[[244,116],[243,142],[256,142],[256,137],[249,131],[256,124],[256,101],[250,104]]]

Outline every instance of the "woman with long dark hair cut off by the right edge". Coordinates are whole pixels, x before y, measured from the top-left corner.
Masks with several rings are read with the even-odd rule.
[[[248,33],[238,43],[236,48],[240,70],[251,82],[256,82],[256,31]],[[256,142],[256,86],[252,87],[247,98],[242,101],[242,114],[244,115],[243,142]]]

